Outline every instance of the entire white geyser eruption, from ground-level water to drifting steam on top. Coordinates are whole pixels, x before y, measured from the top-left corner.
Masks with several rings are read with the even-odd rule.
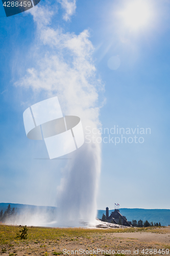
[[[76,8],[75,1],[60,2],[66,9],[64,19],[67,20]],[[72,3],[70,9],[68,3]],[[35,67],[30,67],[16,86],[30,87],[34,92],[45,90],[47,97],[57,95],[65,115],[79,116],[84,129],[87,125],[88,129],[98,129],[98,91],[102,83],[96,78],[88,30],[76,35],[63,33],[61,28],[54,29],[54,13],[45,7],[33,8],[31,14],[37,26],[36,49],[40,50],[34,52]],[[57,225],[79,225],[80,220],[92,222],[95,219],[101,146],[86,142],[71,153],[72,160],[63,170],[57,194]]]

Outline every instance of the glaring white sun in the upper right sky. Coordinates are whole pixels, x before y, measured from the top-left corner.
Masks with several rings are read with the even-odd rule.
[[[151,7],[147,1],[128,1],[125,9],[120,12],[125,25],[130,29],[137,30],[149,25],[151,18]]]

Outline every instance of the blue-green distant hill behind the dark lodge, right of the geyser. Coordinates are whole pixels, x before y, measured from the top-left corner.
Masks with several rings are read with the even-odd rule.
[[[109,215],[114,210],[109,210]],[[106,210],[98,210],[98,219],[106,215]],[[121,208],[120,214],[125,216],[128,221],[148,220],[149,222],[160,222],[162,226],[170,225],[170,209],[140,209],[140,208]]]

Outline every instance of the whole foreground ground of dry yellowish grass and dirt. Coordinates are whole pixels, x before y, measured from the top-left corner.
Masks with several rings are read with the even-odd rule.
[[[16,254],[18,256],[26,254],[59,255],[62,254],[64,248],[67,250],[102,248],[105,251],[113,248],[115,251],[125,249],[133,251],[136,248],[139,248],[140,251],[142,248],[165,248],[170,250],[170,243],[164,243],[164,240],[148,241],[148,237],[160,236],[163,238],[166,236],[168,238],[170,227],[125,229],[28,227],[28,239],[26,240],[16,238],[16,233],[20,229],[19,226],[0,225],[0,254],[2,252],[4,256]],[[141,236],[146,236],[147,239],[142,241]],[[143,254],[139,253],[138,255]]]

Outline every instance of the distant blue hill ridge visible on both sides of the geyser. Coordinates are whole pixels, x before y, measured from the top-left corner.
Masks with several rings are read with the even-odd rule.
[[[57,207],[54,206],[36,206],[36,205],[28,205],[28,204],[13,204],[13,203],[0,203],[0,211],[3,209],[3,212],[7,209],[8,205],[11,205],[11,208],[15,207],[19,211],[21,209],[44,209],[47,211],[57,211]],[[109,210],[109,215],[113,210]],[[105,210],[98,210],[98,219],[102,219],[102,215],[106,215]],[[132,220],[148,220],[149,222],[160,222],[162,226],[170,225],[170,209],[141,209],[141,208],[120,208],[120,214],[126,216],[128,221]]]

